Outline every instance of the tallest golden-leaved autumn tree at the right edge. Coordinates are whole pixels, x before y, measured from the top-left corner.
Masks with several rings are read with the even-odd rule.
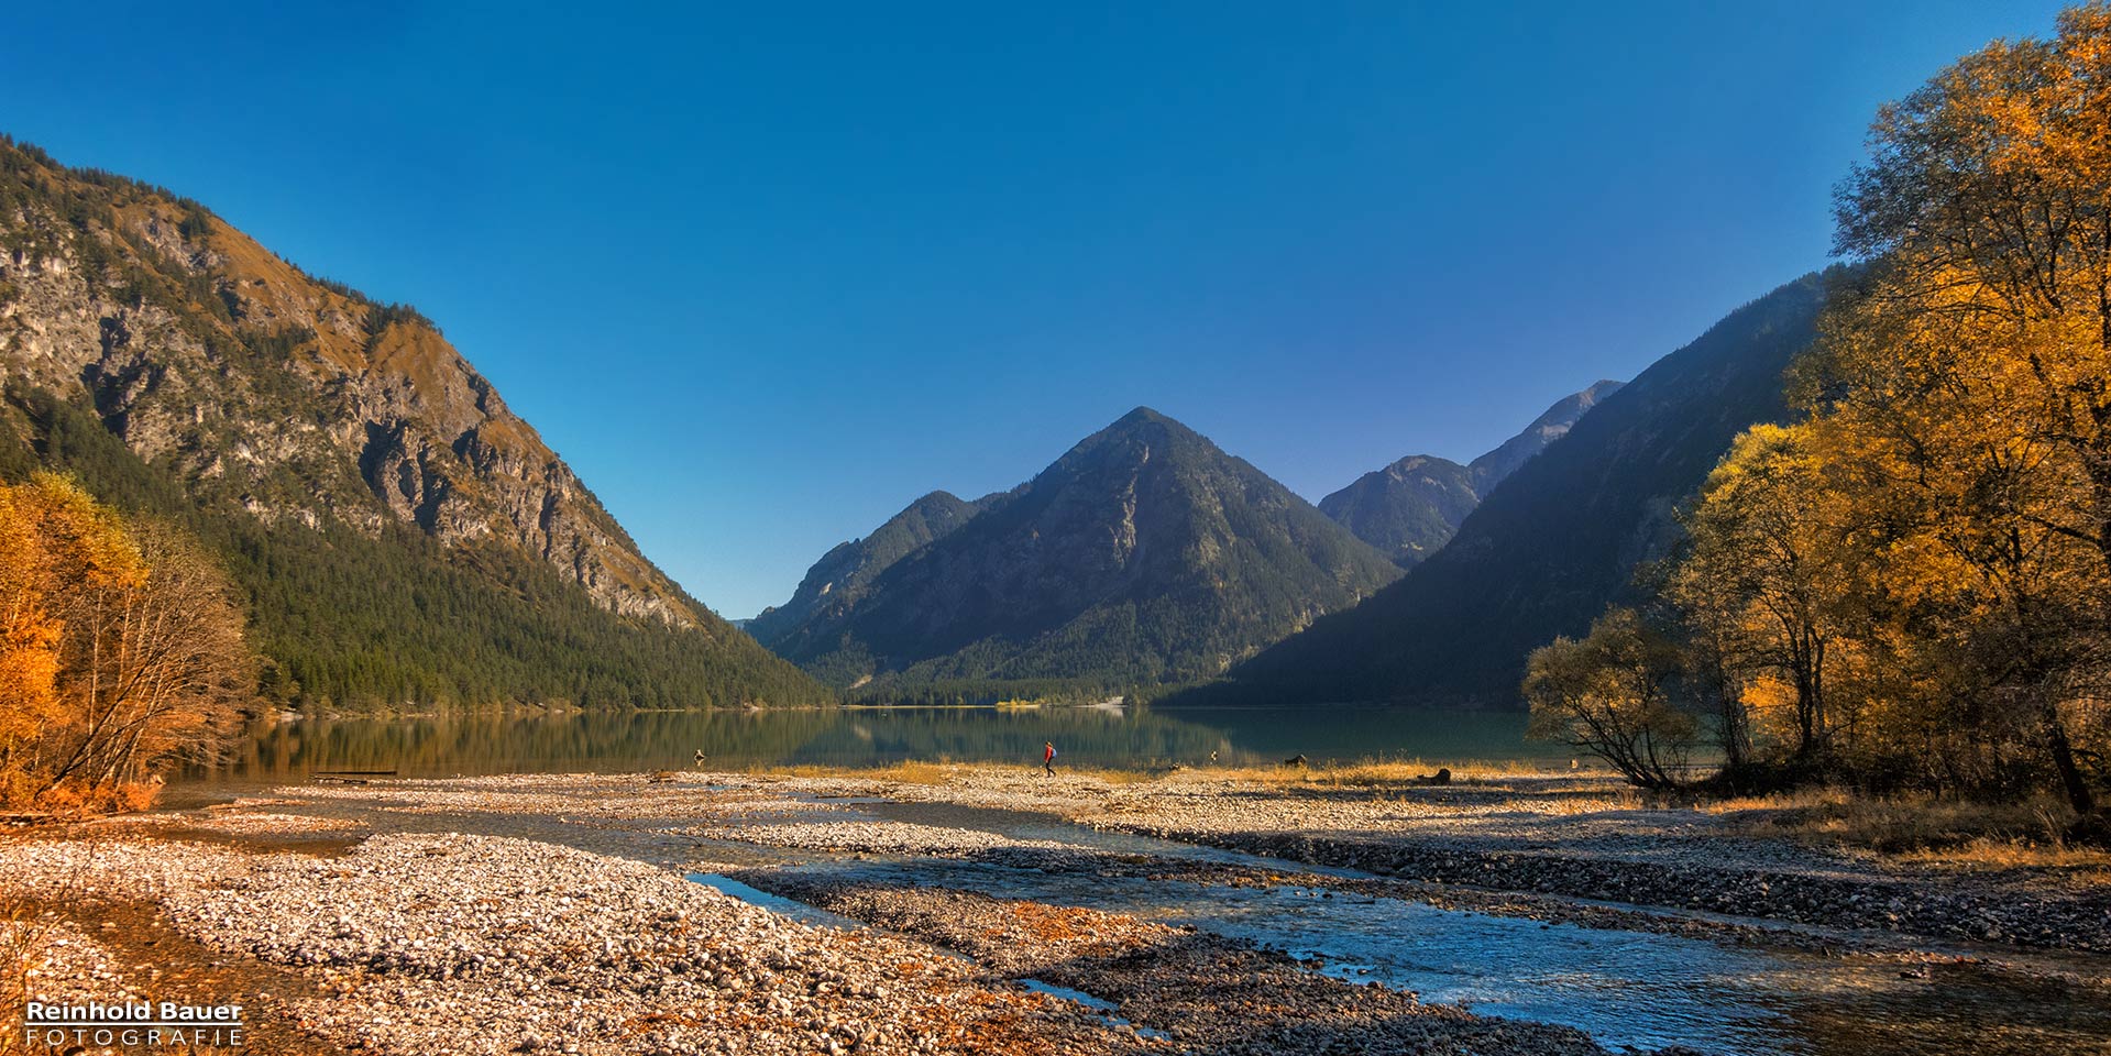
[[[2037,746],[2069,803],[2111,676],[2111,6],[1885,106],[1839,190],[1866,262],[1801,403],[1894,536],[1877,591],[1921,693]]]

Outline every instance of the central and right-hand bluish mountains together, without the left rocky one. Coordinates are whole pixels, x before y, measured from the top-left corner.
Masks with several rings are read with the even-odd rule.
[[[1514,703],[1524,655],[1583,631],[1731,437],[1786,414],[1820,302],[1815,275],[1784,285],[1469,465],[1402,458],[1319,507],[1138,408],[1013,492],[918,498],[752,627],[882,699],[1070,680],[1201,682],[1174,705]]]

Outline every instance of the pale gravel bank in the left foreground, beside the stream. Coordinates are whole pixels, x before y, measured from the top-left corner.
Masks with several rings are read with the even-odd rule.
[[[148,866],[148,876],[135,868]],[[192,843],[11,843],[46,898],[139,891],[222,955],[308,995],[232,995],[338,1050],[405,1054],[1138,1052],[1134,1031],[880,931],[836,931],[663,868],[549,843],[372,836],[338,857]],[[36,883],[36,876],[63,879]],[[141,891],[144,889],[144,891]],[[144,995],[110,953],[55,961],[65,997]],[[95,967],[87,978],[72,961]],[[198,995],[222,997],[222,995]]]

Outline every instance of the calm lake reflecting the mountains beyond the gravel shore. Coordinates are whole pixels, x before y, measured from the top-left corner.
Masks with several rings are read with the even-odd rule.
[[[823,708],[711,712],[445,714],[300,718],[264,724],[205,781],[300,779],[315,771],[405,777],[591,773],[779,765],[868,767],[899,760],[1150,767],[1364,758],[1541,760],[1562,746],[1524,739],[1524,714],[1427,708]]]

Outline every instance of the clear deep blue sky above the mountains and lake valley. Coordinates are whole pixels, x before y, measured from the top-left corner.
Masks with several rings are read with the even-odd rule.
[[[1877,103],[2058,8],[1467,6],[6,4],[0,131],[418,304],[745,617],[1138,403],[1307,498],[1469,458],[1820,266]]]

